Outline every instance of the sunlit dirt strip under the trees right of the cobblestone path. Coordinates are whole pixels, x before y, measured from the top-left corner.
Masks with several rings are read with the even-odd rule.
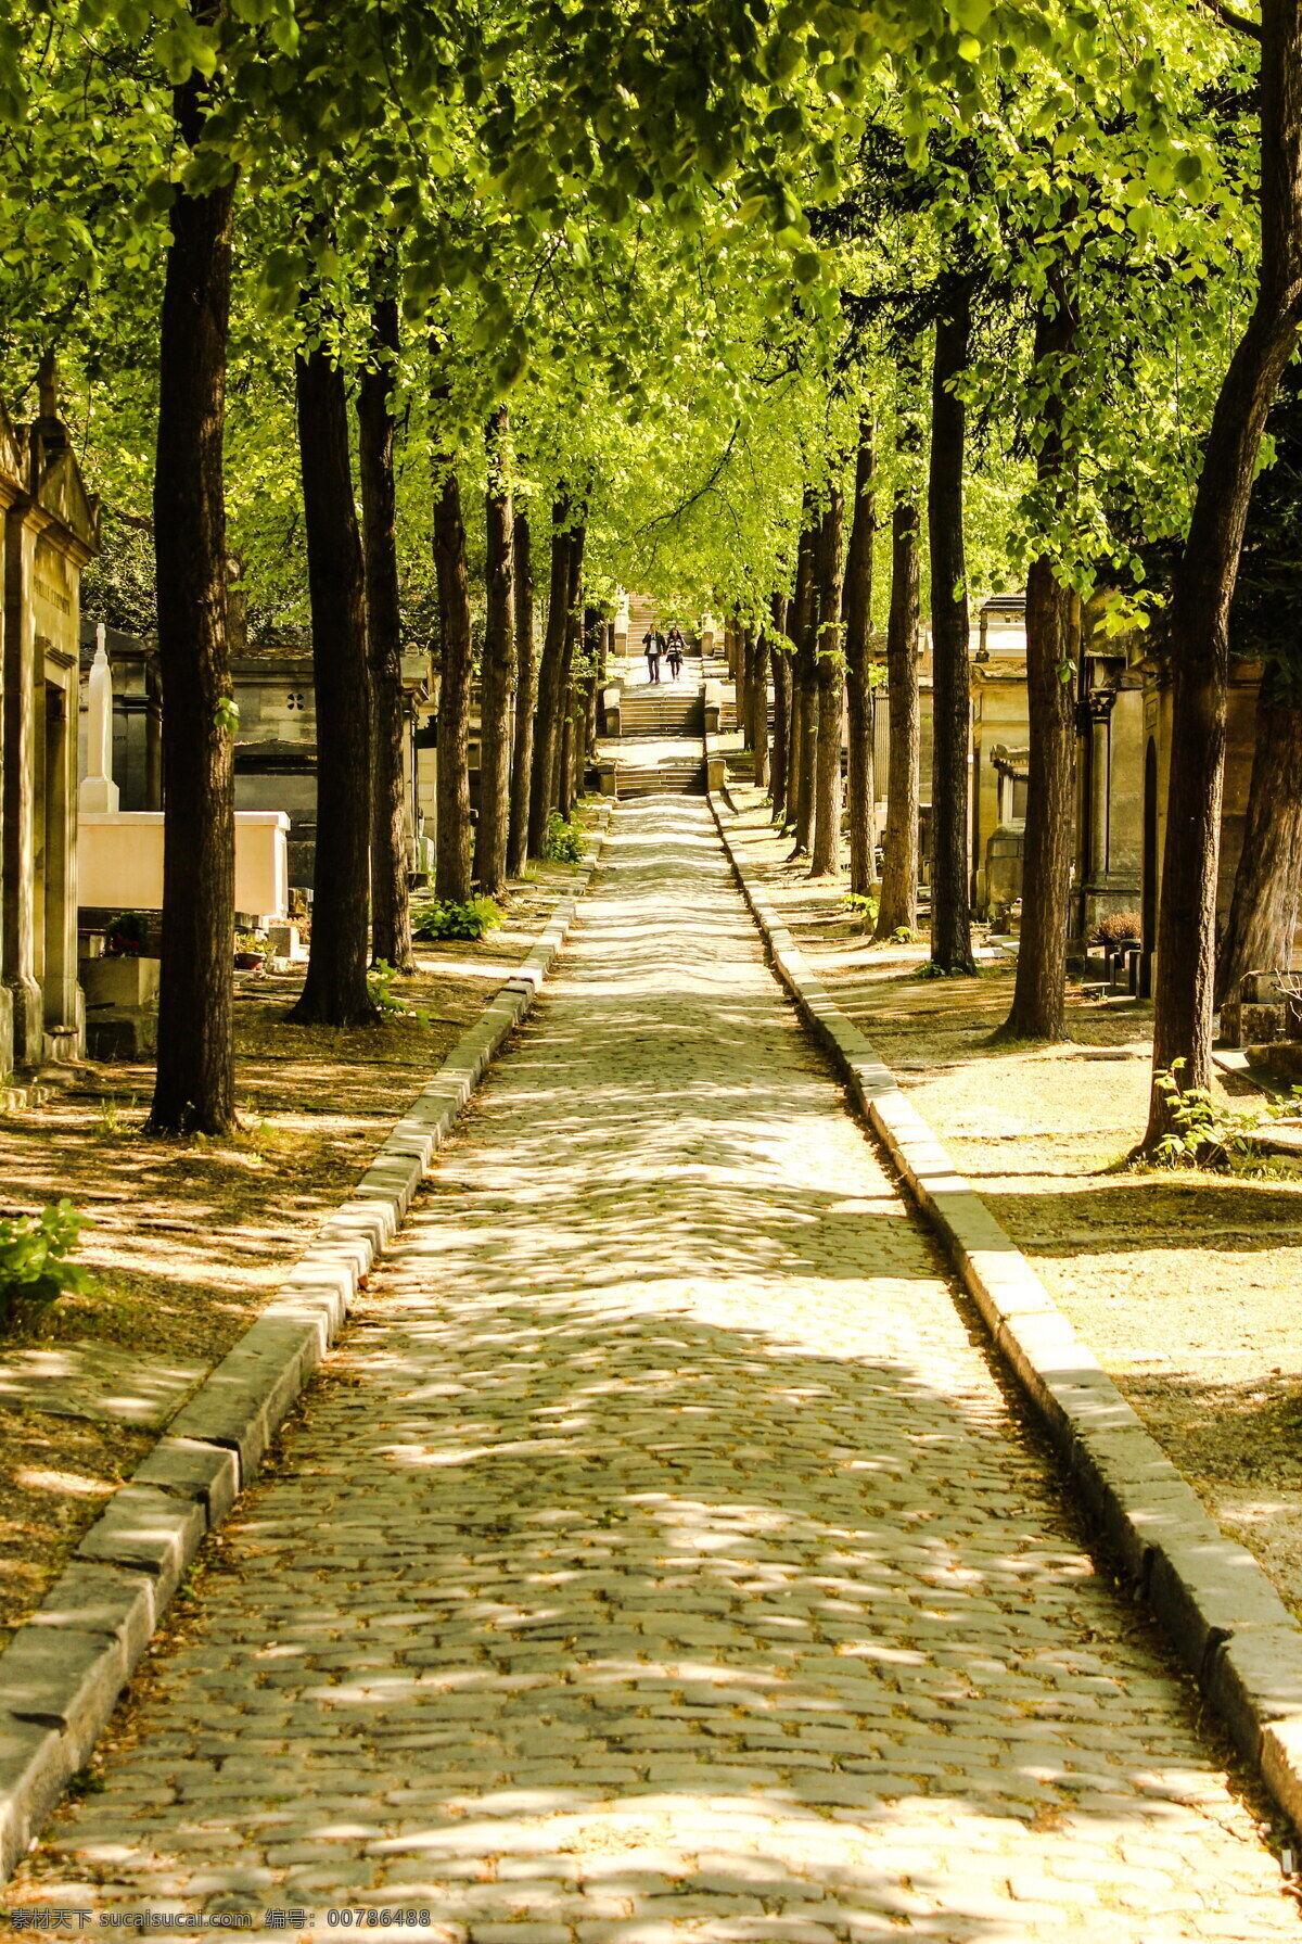
[[[787,863],[768,809],[731,787],[733,836],[816,976],[1209,1512],[1302,1615],[1302,1164],[1125,1168],[1148,1110],[1150,1005],[1071,989],[1065,1044],[991,1046],[1012,960],[919,980],[925,941],[874,945],[843,885]]]

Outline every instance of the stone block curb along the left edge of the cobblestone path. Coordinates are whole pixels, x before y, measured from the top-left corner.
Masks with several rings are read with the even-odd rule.
[[[587,890],[610,822],[532,951],[381,1143],[280,1293],[109,1499],[45,1604],[0,1652],[0,1882],[84,1767],[204,1534],[249,1483],[338,1334],[367,1269],[402,1227],[435,1149],[529,1013]]]

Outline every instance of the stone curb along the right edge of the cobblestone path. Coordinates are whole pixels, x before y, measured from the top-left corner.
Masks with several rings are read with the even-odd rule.
[[[709,807],[777,976],[944,1244],[1084,1510],[1240,1753],[1302,1827],[1302,1627],[1251,1553],[1207,1514],[894,1073],[812,974],[762,881],[735,850],[713,795]]]

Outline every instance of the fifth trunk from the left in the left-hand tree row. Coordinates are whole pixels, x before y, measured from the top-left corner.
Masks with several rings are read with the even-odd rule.
[[[515,690],[515,515],[503,472],[505,408],[488,432],[484,498],[484,655],[480,661],[480,816],[474,826],[474,877],[488,898],[507,885],[511,815],[511,700]]]

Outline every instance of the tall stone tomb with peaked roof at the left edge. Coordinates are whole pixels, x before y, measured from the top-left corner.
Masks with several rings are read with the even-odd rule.
[[[0,408],[4,626],[0,704],[0,1065],[84,1050],[76,805],[82,568],[99,507],[58,418],[54,369],[17,434]]]

